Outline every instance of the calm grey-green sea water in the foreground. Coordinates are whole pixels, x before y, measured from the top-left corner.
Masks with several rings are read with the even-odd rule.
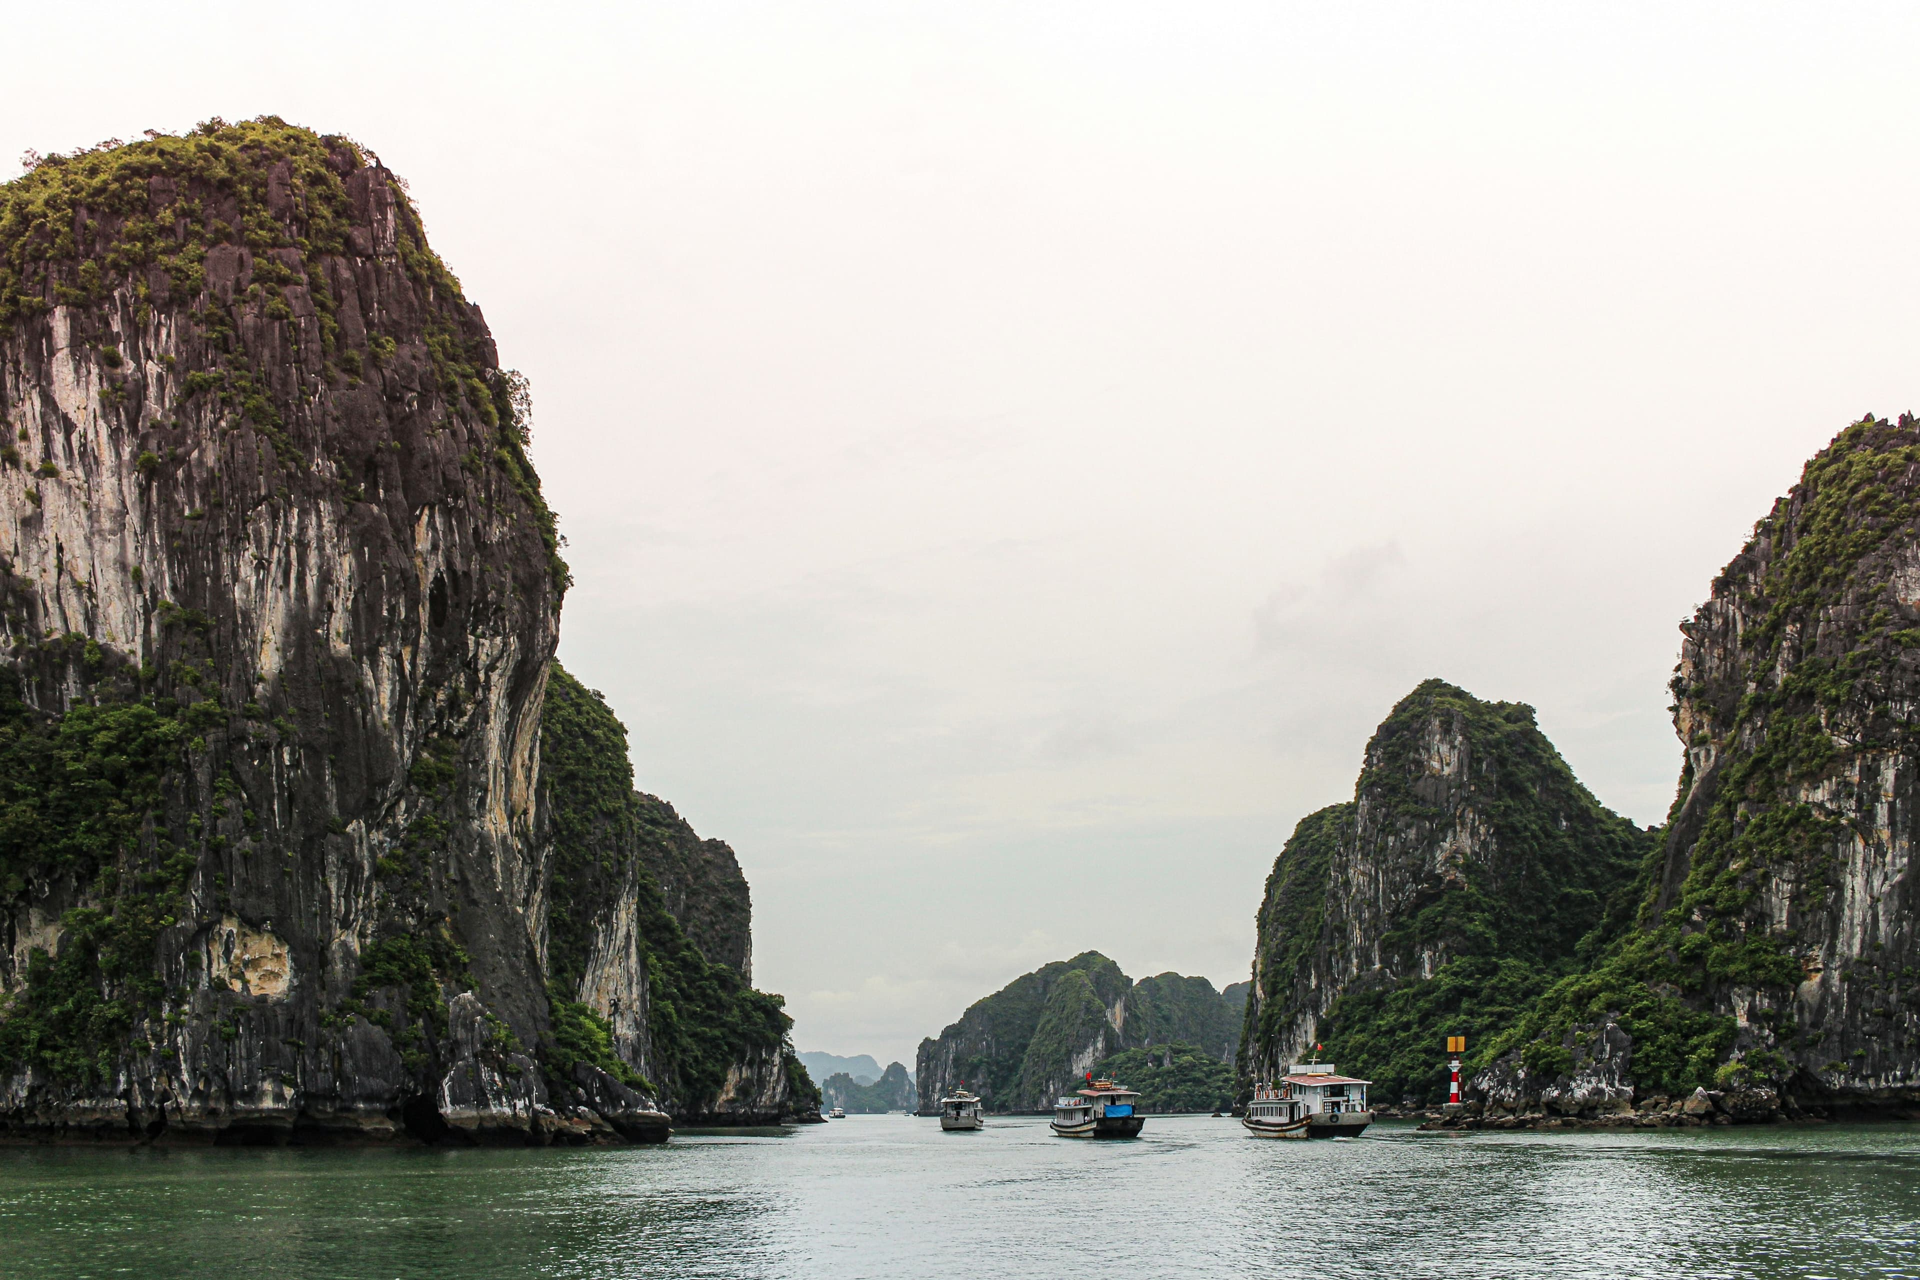
[[[662,1148],[0,1148],[0,1276],[1920,1276],[1920,1126],[1260,1142],[851,1117]]]

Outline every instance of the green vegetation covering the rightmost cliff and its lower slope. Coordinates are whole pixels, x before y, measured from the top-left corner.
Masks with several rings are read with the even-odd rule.
[[[1916,495],[1914,422],[1862,418],[1755,524],[1715,599],[1684,628],[1670,689],[1688,754],[1667,856],[1649,858],[1638,883],[1636,927],[1484,1057],[1519,1052],[1526,1067],[1553,1075],[1582,1025],[1617,1019],[1634,1038],[1644,1092],[1786,1082],[1795,1050],[1836,1075],[1851,1069],[1818,1061],[1832,1050],[1820,1050],[1820,1032],[1793,1027],[1793,992],[1809,963],[1818,973],[1801,956],[1822,952],[1843,890],[1837,850],[1876,827],[1872,808],[1857,804],[1860,758],[1878,771],[1884,760],[1920,754],[1908,712],[1920,618],[1895,581],[1910,564]],[[1761,906],[1766,885],[1797,890],[1784,927]],[[1845,973],[1866,979],[1862,1007],[1891,1015],[1901,984],[1874,984],[1887,967],[1899,973],[1899,960],[1876,944]],[[1720,1011],[1736,990],[1761,996],[1747,1006],[1745,1034]],[[1740,1059],[1728,1061],[1743,1038]]]

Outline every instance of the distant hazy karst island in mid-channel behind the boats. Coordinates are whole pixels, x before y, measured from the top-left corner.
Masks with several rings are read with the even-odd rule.
[[[1229,1025],[1227,1002],[1206,979],[1133,983],[1100,952],[1083,952],[1014,979],[922,1040],[920,1111],[937,1111],[962,1082],[991,1111],[1044,1111],[1114,1054],[1165,1042],[1225,1048]]]

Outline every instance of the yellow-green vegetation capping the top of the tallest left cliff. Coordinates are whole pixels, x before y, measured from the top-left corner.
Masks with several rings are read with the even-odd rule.
[[[338,384],[359,386],[365,368],[392,359],[388,334],[348,342],[326,271],[328,261],[353,251],[346,178],[367,167],[369,155],[351,138],[276,115],[234,125],[215,117],[186,136],[150,132],[142,142],[115,138],[46,155],[0,184],[0,326],[56,305],[98,307],[115,294],[131,294],[136,322],[157,305],[184,305],[215,361],[179,370],[175,413],[198,409],[246,424],[271,443],[280,466],[303,466],[305,451],[288,439],[267,390],[267,368],[240,342],[242,309],[261,303],[269,320],[292,326],[288,290],[301,290]],[[472,455],[468,466],[495,468],[526,503],[564,595],[572,578],[559,553],[559,524],[526,457],[526,380],[495,368],[490,349],[463,330],[459,313],[468,303],[459,278],[426,242],[407,188],[392,175],[384,182],[401,267],[432,299],[422,317],[424,357],[449,407],[493,432],[486,457]],[[207,255],[221,246],[248,253],[250,284],[232,297],[207,290]],[[100,355],[108,368],[121,367],[117,347]],[[117,390],[109,378],[108,393]],[[161,466],[159,455],[148,457],[146,472]]]

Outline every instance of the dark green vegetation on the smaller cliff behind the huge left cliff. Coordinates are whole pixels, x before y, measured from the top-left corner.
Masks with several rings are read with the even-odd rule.
[[[543,1046],[549,1067],[586,1057],[611,1069],[605,1023],[568,994],[578,992],[586,975],[595,921],[630,883],[637,887],[636,925],[645,950],[647,1031],[660,1063],[659,1084],[682,1109],[708,1107],[735,1063],[791,1055],[785,1036],[793,1019],[783,1000],[755,990],[732,965],[708,963],[666,910],[639,850],[647,806],[634,791],[626,725],[559,662],[547,677],[540,752],[553,819],[547,958],[557,1038]],[[559,1036],[568,1031],[572,1040],[563,1042]],[[797,1061],[789,1073],[795,1067]],[[804,1069],[799,1075],[804,1079]]]

